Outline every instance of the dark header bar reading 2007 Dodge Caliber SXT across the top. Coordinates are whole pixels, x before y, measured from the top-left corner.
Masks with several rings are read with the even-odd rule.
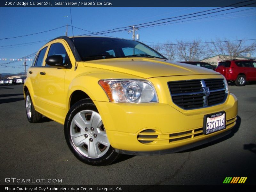
[[[231,4],[256,7],[256,0],[4,0],[0,7],[224,7]]]

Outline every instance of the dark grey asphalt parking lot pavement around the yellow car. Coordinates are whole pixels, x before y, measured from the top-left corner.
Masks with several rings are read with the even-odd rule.
[[[124,156],[94,167],[68,149],[63,126],[46,117],[30,124],[22,85],[0,86],[1,185],[221,185],[225,177],[256,184],[256,84],[230,85],[238,98],[238,120],[228,136],[184,152]],[[61,179],[61,183],[6,183],[5,178]]]

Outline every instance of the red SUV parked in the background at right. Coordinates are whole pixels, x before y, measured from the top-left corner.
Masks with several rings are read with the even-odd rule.
[[[221,61],[215,71],[225,76],[227,81],[234,81],[236,86],[244,86],[246,81],[256,81],[255,60]]]

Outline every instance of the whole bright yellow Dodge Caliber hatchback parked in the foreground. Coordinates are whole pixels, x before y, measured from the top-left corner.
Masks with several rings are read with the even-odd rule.
[[[64,124],[69,148],[91,165],[210,142],[227,135],[237,116],[221,74],[118,38],[53,39],[28,69],[24,96],[28,121],[44,115]]]

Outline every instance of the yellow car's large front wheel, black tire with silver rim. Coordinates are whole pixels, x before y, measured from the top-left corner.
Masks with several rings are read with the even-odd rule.
[[[100,114],[91,100],[80,100],[70,108],[64,133],[72,153],[86,164],[108,165],[120,156],[111,147]]]

